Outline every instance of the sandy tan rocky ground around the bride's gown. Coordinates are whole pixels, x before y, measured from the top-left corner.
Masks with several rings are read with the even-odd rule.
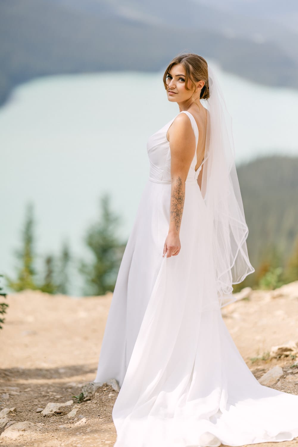
[[[263,384],[298,394],[298,281],[272,292],[244,289],[237,297],[222,316],[248,367]],[[0,446],[113,446],[116,387],[104,384],[81,401],[82,389],[95,379],[111,298],[38,291],[7,296]],[[298,438],[278,446],[298,446]]]

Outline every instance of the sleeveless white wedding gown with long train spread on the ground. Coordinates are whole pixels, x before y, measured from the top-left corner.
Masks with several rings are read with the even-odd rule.
[[[192,114],[186,113],[198,141]],[[115,378],[115,447],[242,446],[298,436],[298,396],[256,380],[222,320],[211,225],[194,154],[181,250],[162,257],[170,219],[167,131],[147,142],[149,179],[122,258],[94,382]],[[252,334],[253,338],[253,334]]]

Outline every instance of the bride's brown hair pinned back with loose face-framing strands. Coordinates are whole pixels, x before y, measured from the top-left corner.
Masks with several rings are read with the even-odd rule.
[[[209,98],[208,64],[202,56],[193,53],[182,54],[174,57],[174,59],[171,60],[166,71],[164,72],[163,76],[164,88],[168,90],[168,86],[166,83],[168,72],[174,65],[177,65],[178,63],[183,65],[185,69],[185,89],[189,90],[186,87],[188,84],[188,80],[191,81],[194,89],[196,88],[195,82],[203,80],[205,81],[205,84],[201,89],[200,99],[208,99]]]

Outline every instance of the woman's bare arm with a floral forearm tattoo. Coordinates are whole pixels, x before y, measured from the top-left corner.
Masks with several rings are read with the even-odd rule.
[[[180,252],[180,226],[185,201],[185,180],[193,160],[196,139],[191,122],[186,114],[179,114],[173,121],[169,133],[171,150],[171,203],[168,236],[164,243],[167,257]],[[175,253],[175,254],[173,254]]]

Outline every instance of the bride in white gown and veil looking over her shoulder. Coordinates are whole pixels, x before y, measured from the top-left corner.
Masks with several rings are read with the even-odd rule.
[[[149,177],[94,382],[116,379],[115,447],[241,446],[298,436],[298,396],[261,385],[221,308],[254,271],[231,117],[206,60],[164,72],[179,113],[147,140]],[[253,334],[252,334],[253,337]]]

